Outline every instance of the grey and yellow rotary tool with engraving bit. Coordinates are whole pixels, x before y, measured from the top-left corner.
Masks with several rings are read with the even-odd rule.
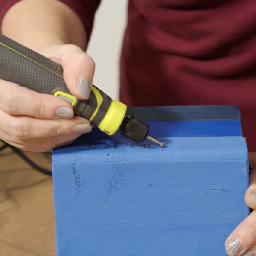
[[[149,126],[134,116],[125,116],[127,107],[112,100],[96,86],[90,97],[79,100],[68,90],[61,65],[0,34],[0,79],[14,82],[39,93],[52,94],[67,100],[76,116],[89,120],[108,135],[117,130],[135,143],[146,138],[161,147],[163,142],[148,135]]]

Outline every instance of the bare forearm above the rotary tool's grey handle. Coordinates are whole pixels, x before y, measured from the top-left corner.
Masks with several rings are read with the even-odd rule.
[[[22,0],[6,12],[2,33],[31,49],[76,44],[85,49],[86,32],[72,9],[57,0]]]

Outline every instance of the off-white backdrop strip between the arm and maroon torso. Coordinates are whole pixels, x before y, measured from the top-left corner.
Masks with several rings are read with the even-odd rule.
[[[119,99],[119,57],[126,26],[128,0],[102,0],[87,48],[96,70],[93,84]]]

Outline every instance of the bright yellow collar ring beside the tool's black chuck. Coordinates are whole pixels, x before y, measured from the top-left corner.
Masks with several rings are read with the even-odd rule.
[[[112,100],[98,128],[108,135],[113,135],[121,126],[126,111],[127,107],[125,104],[117,100]]]

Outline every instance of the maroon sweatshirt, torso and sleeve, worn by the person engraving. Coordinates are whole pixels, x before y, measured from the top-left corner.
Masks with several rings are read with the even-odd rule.
[[[18,0],[0,0],[0,20]],[[61,0],[90,35],[99,1]],[[111,29],[111,28],[110,28]],[[256,152],[254,0],[130,0],[120,61],[128,106],[239,105]]]

